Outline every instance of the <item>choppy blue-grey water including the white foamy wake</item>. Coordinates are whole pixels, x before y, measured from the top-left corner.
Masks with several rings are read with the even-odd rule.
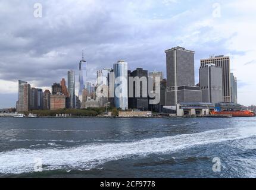
[[[255,161],[256,118],[0,118],[2,178],[255,178]]]

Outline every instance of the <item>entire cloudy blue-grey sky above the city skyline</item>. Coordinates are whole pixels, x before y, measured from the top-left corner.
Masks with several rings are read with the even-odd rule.
[[[78,74],[82,49],[93,80],[121,58],[166,75],[164,50],[174,46],[195,50],[196,81],[200,59],[230,56],[239,103],[256,105],[255,20],[255,0],[2,0],[0,107],[15,106],[18,79],[51,89],[69,69]]]

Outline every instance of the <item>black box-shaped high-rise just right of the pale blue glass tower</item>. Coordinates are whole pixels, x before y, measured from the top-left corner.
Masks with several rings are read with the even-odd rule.
[[[140,85],[136,85],[135,82],[133,82],[133,97],[129,96],[129,109],[138,109],[138,110],[148,110],[148,71],[143,70],[142,68],[137,68],[135,71],[130,72],[128,71],[129,77],[145,77],[146,78],[146,84],[143,84],[140,82]],[[131,84],[129,83],[129,86]],[[136,89],[137,88],[137,89]],[[139,90],[140,97],[136,97],[136,90]],[[142,92],[146,91],[146,96],[142,96]]]

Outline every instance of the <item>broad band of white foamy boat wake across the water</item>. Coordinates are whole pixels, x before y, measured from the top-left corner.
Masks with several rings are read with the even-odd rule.
[[[93,143],[72,148],[17,149],[0,153],[0,173],[20,174],[34,171],[35,160],[43,170],[90,170],[108,161],[131,156],[168,154],[200,145],[253,137],[255,127],[218,129],[198,134],[149,138],[129,143]]]

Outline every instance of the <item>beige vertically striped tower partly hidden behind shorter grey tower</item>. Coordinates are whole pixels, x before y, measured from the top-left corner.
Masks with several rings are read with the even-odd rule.
[[[215,64],[222,68],[222,88],[223,102],[231,102],[231,87],[230,87],[230,58],[229,56],[211,56],[209,59],[201,59],[201,66],[207,64]]]

